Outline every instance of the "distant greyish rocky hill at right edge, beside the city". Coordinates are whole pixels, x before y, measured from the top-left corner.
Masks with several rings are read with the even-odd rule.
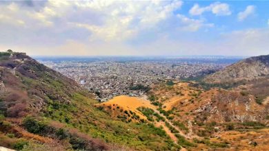
[[[204,81],[210,83],[239,82],[269,75],[269,55],[246,58],[233,65],[208,75]]]

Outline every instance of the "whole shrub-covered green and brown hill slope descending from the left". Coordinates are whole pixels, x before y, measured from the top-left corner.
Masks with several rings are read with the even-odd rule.
[[[16,150],[173,150],[166,132],[112,118],[76,82],[23,53],[0,53],[0,146]]]

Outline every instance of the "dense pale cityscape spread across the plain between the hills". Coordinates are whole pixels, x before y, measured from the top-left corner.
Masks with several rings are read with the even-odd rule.
[[[158,60],[41,60],[43,64],[63,73],[96,94],[105,102],[117,95],[141,96],[148,87],[162,80],[181,80],[212,73],[235,59],[212,58]]]

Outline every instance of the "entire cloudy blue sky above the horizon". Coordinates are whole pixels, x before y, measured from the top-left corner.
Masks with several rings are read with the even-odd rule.
[[[0,1],[0,50],[32,56],[269,54],[269,1]]]

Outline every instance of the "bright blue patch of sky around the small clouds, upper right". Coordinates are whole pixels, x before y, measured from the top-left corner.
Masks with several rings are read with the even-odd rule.
[[[269,1],[219,1],[221,3],[227,3],[229,5],[230,15],[218,17],[210,12],[202,14],[208,21],[215,23],[216,27],[225,26],[224,31],[230,30],[244,30],[248,28],[268,27],[269,16]],[[189,10],[193,7],[194,3],[199,4],[201,7],[206,7],[212,3],[212,1],[184,1],[184,7],[175,13],[188,14]],[[246,10],[248,5],[253,5],[255,10],[244,21],[238,21],[238,13]],[[200,16],[194,16],[199,19]]]

